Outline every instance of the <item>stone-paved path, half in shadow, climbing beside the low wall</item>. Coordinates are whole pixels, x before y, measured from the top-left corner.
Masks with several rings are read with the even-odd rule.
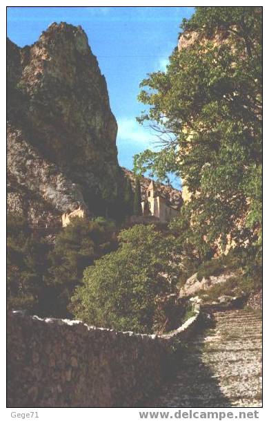
[[[214,327],[188,342],[177,374],[148,407],[261,406],[261,317],[213,311]]]

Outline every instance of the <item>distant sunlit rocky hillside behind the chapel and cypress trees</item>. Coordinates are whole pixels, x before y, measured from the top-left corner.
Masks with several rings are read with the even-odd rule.
[[[122,167],[123,172],[126,177],[130,178],[132,189],[135,191],[135,173]],[[141,185],[141,197],[142,200],[146,199],[146,191],[148,186],[152,182],[151,178],[141,176],[140,185]],[[180,190],[174,189],[171,185],[164,185],[162,183],[155,182],[155,191],[157,194],[166,199],[167,203],[172,206],[181,207],[183,204],[182,194]]]

